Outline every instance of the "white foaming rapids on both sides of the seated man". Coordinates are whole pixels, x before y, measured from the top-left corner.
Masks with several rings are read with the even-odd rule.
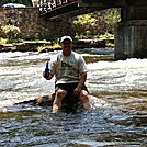
[[[54,91],[54,81],[42,77],[45,61],[56,53],[0,53],[0,106],[12,105]],[[14,63],[14,65],[11,65]],[[18,63],[20,63],[18,65]],[[87,87],[90,92],[146,90],[147,59],[126,59],[88,64]],[[94,99],[94,100],[93,100]],[[92,98],[95,108],[108,105]]]

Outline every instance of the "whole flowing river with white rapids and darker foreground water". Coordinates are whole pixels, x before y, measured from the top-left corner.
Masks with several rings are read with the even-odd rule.
[[[89,49],[86,49],[89,50]],[[42,77],[53,53],[0,53],[0,147],[101,147],[147,145],[147,59],[97,60],[113,50],[91,49],[90,111],[52,113],[52,108],[15,105],[54,91]]]

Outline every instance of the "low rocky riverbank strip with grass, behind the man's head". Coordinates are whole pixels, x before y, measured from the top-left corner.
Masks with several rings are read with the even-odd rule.
[[[114,39],[95,38],[95,39],[79,39],[75,41],[74,48],[101,48],[113,46]],[[58,44],[46,41],[25,41],[22,43],[1,44],[0,52],[53,52],[61,49]]]

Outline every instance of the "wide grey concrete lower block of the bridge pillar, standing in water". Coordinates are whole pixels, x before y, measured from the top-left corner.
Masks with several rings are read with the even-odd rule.
[[[115,30],[115,58],[147,57],[147,20],[121,22]]]

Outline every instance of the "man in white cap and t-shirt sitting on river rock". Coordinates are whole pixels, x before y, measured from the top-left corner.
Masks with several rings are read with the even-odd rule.
[[[63,36],[60,38],[61,52],[56,58],[50,60],[49,75],[44,77],[50,80],[54,75],[55,81],[55,100],[53,111],[61,109],[61,101],[66,95],[74,94],[82,102],[83,109],[90,109],[88,90],[84,86],[87,80],[87,67],[83,57],[72,52],[72,38]]]

